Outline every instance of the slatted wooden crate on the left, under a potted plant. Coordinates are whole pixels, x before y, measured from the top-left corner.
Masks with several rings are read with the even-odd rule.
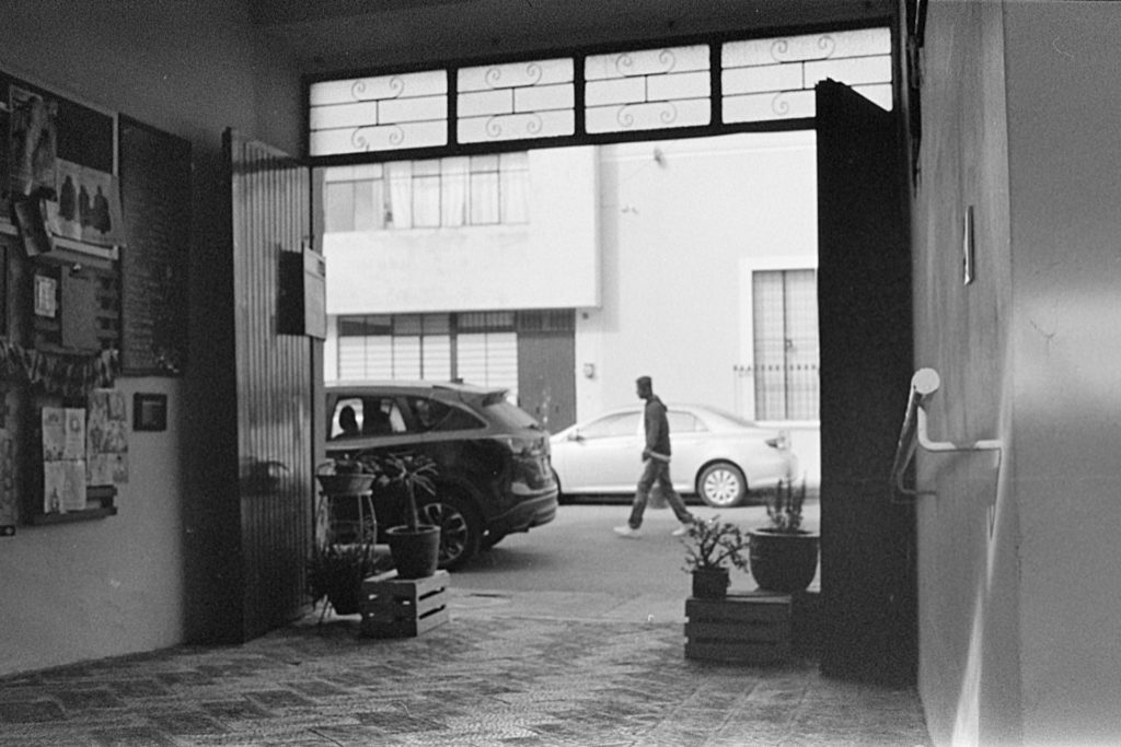
[[[374,638],[418,636],[450,619],[447,571],[399,579],[397,571],[362,581],[362,635]]]

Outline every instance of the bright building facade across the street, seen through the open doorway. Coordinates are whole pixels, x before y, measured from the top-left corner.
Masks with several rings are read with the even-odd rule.
[[[557,431],[646,372],[818,479],[813,131],[502,156],[324,171],[327,380],[506,386]]]

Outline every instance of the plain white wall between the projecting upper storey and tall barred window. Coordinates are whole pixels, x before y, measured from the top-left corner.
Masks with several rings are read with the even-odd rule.
[[[751,364],[751,270],[815,267],[813,132],[601,148],[602,308],[581,309],[577,417],[634,400],[735,410]],[[750,387],[749,387],[750,389]]]

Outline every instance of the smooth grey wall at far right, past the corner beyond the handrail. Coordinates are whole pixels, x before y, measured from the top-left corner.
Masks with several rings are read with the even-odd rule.
[[[1121,6],[1007,2],[1023,738],[1121,740]]]

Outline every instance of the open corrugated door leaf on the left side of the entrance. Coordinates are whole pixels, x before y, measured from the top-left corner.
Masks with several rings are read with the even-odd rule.
[[[239,614],[241,637],[251,638],[305,606],[322,343],[277,329],[280,253],[300,251],[311,236],[308,169],[233,131],[223,144],[235,297]]]

